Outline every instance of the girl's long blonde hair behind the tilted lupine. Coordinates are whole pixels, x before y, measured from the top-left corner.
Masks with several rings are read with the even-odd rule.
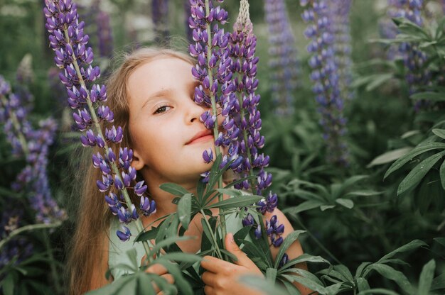
[[[134,70],[151,60],[163,57],[174,57],[193,65],[194,60],[183,52],[170,49],[141,48],[129,55],[124,55],[122,64],[114,70],[107,80],[107,106],[114,112],[114,126],[124,129],[124,138],[120,145],[113,147],[116,155],[119,155],[119,147],[131,147],[131,137],[128,132],[129,120],[129,93],[127,82]],[[104,130],[104,124],[101,125]],[[85,150],[85,149],[84,149]],[[95,147],[93,153],[100,151]],[[90,288],[92,269],[97,260],[108,259],[108,253],[104,253],[101,245],[107,237],[112,213],[104,201],[104,194],[96,186],[97,179],[102,179],[100,169],[95,169],[91,164],[91,150],[84,157],[82,168],[78,173],[82,174],[83,184],[80,205],[77,210],[77,223],[73,235],[70,250],[68,251],[68,283],[69,294],[84,294]],[[129,191],[132,200],[136,203],[136,196]],[[101,256],[107,255],[107,256]],[[102,261],[102,260],[101,260]],[[105,271],[106,269],[104,269]]]

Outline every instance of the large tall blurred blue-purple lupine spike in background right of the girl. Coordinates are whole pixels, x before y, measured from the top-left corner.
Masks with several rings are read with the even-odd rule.
[[[338,82],[334,35],[332,32],[331,11],[326,0],[300,0],[306,6],[301,17],[309,23],[304,34],[311,40],[308,51],[312,53],[309,66],[312,68],[311,79],[313,92],[321,114],[323,138],[326,140],[328,161],[333,164],[348,165],[348,148],[343,140],[346,133],[343,117],[343,99]]]

